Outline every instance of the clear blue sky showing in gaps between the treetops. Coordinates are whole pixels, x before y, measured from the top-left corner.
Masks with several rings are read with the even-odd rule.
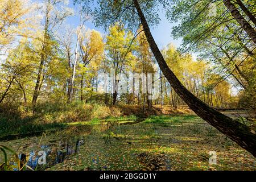
[[[69,1],[69,7],[77,8],[73,5],[73,1]],[[174,40],[173,37],[171,36],[171,29],[173,26],[175,26],[174,23],[168,22],[166,19],[166,16],[162,11],[159,12],[160,16],[160,23],[157,27],[151,28],[152,35],[155,38],[156,43],[158,44],[159,48],[163,48],[164,46],[167,46],[167,44],[172,43],[176,47],[179,47],[181,44],[181,39],[179,40]],[[79,17],[78,16],[73,16],[67,19],[67,23],[70,24],[72,27],[77,27],[79,26]],[[102,34],[105,34],[105,31],[102,28],[95,27],[92,22],[86,22],[86,27],[90,29],[95,29],[97,31],[100,31]]]

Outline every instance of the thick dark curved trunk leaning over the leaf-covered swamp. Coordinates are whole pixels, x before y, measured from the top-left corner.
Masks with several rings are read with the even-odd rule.
[[[226,115],[208,106],[203,101],[199,100],[196,96],[194,96],[191,92],[189,92],[189,90],[181,84],[181,82],[166,64],[162,53],[156,45],[155,40],[151,35],[150,28],[148,27],[147,20],[142,13],[141,7],[139,6],[138,0],[133,0],[133,2],[137,9],[139,18],[141,19],[147,41],[150,44],[150,48],[154,53],[155,59],[158,62],[158,65],[164,76],[166,76],[172,88],[174,88],[175,92],[179,94],[183,101],[185,101],[186,104],[197,115],[199,115],[199,117],[203,118],[210,125],[215,127],[221,133],[225,134],[234,142],[238,143],[242,148],[245,148],[245,150],[251,152],[251,154],[256,157],[255,131],[250,130],[249,127],[247,127],[246,125],[243,125],[242,123],[232,118],[229,118]]]

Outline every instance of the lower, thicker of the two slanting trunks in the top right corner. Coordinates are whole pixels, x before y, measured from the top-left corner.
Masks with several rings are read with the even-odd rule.
[[[240,14],[237,10],[236,6],[230,0],[223,0],[224,5],[228,8],[234,19],[240,24],[244,31],[246,31],[247,35],[253,40],[254,44],[256,44],[256,31],[253,27],[251,27],[250,23],[246,21],[245,18]]]

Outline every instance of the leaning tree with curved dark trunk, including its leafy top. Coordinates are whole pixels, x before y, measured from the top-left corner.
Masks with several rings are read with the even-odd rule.
[[[125,3],[126,2],[126,3]],[[256,156],[256,134],[255,131],[250,130],[249,127],[246,125],[243,125],[242,123],[227,117],[226,115],[218,112],[217,110],[213,109],[212,107],[205,104],[203,101],[196,98],[191,92],[189,92],[177,79],[177,77],[174,75],[174,73],[171,71],[171,69],[166,64],[166,61],[163,58],[162,53],[160,52],[157,44],[155,43],[154,38],[152,37],[150,27],[148,26],[148,22],[144,16],[144,13],[141,9],[141,5],[144,5],[143,10],[147,9],[147,11],[144,11],[147,13],[147,17],[152,17],[152,15],[155,15],[154,7],[152,8],[151,3],[155,5],[155,3],[158,3],[158,1],[147,1],[146,3],[143,3],[138,0],[133,1],[122,1],[122,2],[116,2],[108,4],[108,6],[101,6],[101,11],[103,13],[108,12],[108,15],[115,15],[113,18],[109,18],[108,22],[105,22],[105,24],[108,24],[113,19],[116,19],[116,17],[122,18],[123,16],[126,16],[124,20],[127,20],[130,24],[133,24],[140,19],[143,30],[145,32],[146,38],[148,43],[150,44],[151,51],[154,53],[155,59],[158,62],[158,65],[163,72],[164,76],[167,78],[167,80],[170,82],[172,88],[174,88],[175,92],[179,94],[179,96],[188,104],[188,106],[195,111],[199,117],[203,118],[205,121],[207,121],[210,125],[216,127],[221,133],[224,133],[227,135],[230,139],[237,142],[241,147],[245,148],[247,151],[251,152],[254,156]],[[117,5],[116,5],[117,4]],[[125,14],[122,10],[122,8],[127,7],[135,7],[135,10],[137,13],[134,14],[134,11],[129,11],[130,14]],[[149,13],[148,9],[152,8],[152,11]],[[111,9],[114,13],[110,13],[107,9]],[[130,9],[128,9],[130,10]],[[121,13],[122,12],[122,13]],[[101,12],[102,13],[102,12]],[[136,14],[138,16],[136,16]],[[148,15],[149,14],[149,15]],[[98,15],[96,13],[96,15]],[[108,15],[98,17],[98,19],[104,19],[106,17],[109,17]],[[151,16],[150,16],[151,15]],[[111,17],[111,16],[110,16]],[[133,18],[130,18],[133,17]],[[128,18],[128,19],[127,19]],[[103,22],[102,20],[100,22]],[[133,22],[134,20],[134,22]],[[152,22],[152,19],[150,19],[150,22]],[[154,23],[154,21],[153,21]]]

